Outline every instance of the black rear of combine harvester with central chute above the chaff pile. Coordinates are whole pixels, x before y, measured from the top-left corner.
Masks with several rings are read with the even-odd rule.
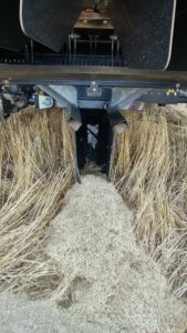
[[[120,111],[187,103],[184,0],[2,0],[0,115],[67,109],[77,167],[108,173]]]

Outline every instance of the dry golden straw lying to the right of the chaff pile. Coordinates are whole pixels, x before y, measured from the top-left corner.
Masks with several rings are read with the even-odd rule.
[[[177,296],[187,295],[187,111],[127,112],[115,138],[111,179],[136,208],[134,230]]]

